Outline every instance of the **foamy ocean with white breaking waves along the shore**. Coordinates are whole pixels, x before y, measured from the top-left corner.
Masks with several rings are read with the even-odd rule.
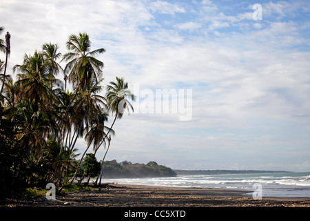
[[[310,172],[178,175],[177,177],[103,179],[101,183],[149,186],[207,187],[257,191],[262,197],[310,198]],[[247,193],[252,195],[252,193]]]

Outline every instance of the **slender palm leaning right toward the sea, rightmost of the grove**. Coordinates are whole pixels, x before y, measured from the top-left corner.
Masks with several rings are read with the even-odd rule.
[[[110,84],[107,85],[107,105],[109,110],[114,113],[114,121],[110,126],[110,130],[114,126],[116,118],[121,119],[123,117],[123,113],[125,109],[128,111],[128,115],[130,114],[130,108],[134,111],[134,107],[130,104],[130,101],[127,99],[130,98],[134,101],[136,98],[132,94],[132,92],[128,89],[128,83],[124,81],[123,77],[119,78],[116,77],[116,81],[111,81]],[[109,135],[110,131],[107,132]],[[106,135],[106,137],[107,137]],[[107,151],[109,151],[110,145],[107,146]],[[103,162],[105,161],[105,156],[107,155],[107,151],[105,151],[105,155],[103,156],[103,160],[101,162],[101,168],[103,166]],[[99,185],[101,184],[101,177],[102,177],[102,170],[100,172],[100,181]]]

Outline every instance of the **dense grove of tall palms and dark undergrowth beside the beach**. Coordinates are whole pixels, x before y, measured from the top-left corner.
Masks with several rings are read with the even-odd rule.
[[[115,133],[112,126],[123,116],[118,104],[134,111],[130,104],[134,95],[123,78],[107,84],[104,95],[103,62],[96,59],[104,48],[90,50],[86,33],[70,35],[67,48],[62,56],[59,46],[50,43],[25,55],[21,64],[14,65],[14,80],[7,70],[10,34],[6,40],[0,37],[0,53],[6,57],[5,62],[0,59],[1,194],[45,189],[50,182],[61,190],[76,177],[85,175],[90,180],[100,175],[96,152],[110,147]],[[109,127],[111,113],[115,116]],[[76,160],[79,137],[85,139],[87,148]]]

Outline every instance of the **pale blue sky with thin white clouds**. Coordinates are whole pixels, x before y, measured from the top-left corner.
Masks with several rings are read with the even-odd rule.
[[[68,52],[79,32],[105,48],[104,85],[124,77],[137,97],[106,160],[310,171],[309,12],[307,0],[1,0],[0,26],[11,74],[45,43]]]

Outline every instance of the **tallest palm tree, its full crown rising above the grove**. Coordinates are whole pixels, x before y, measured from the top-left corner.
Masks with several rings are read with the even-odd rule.
[[[63,55],[61,61],[69,61],[65,66],[64,74],[65,76],[68,74],[68,80],[74,86],[75,95],[63,115],[59,128],[61,128],[63,120],[68,115],[68,110],[79,91],[85,91],[92,80],[98,81],[101,78],[104,65],[102,61],[99,61],[94,56],[102,54],[105,52],[105,49],[99,48],[90,51],[90,46],[90,38],[86,33],[70,35],[67,41],[67,47],[70,52]]]

